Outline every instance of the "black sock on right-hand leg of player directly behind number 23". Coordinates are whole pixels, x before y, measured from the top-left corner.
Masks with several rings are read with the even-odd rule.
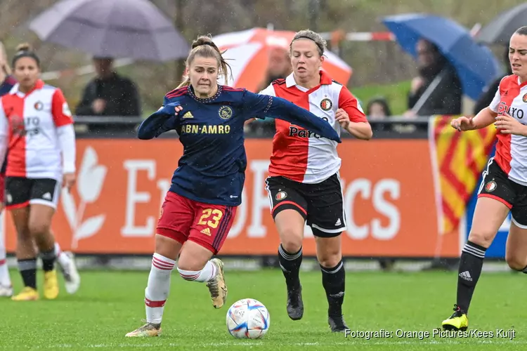
[[[336,266],[327,268],[320,265],[322,271],[322,285],[326,291],[328,314],[330,316],[341,316],[342,303],[344,303],[344,291],[346,283],[346,272],[344,263],[340,260]]]

